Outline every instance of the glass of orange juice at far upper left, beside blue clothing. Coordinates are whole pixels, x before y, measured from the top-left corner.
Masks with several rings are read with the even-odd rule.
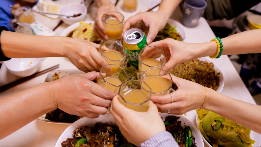
[[[15,14],[15,19],[19,23],[32,24],[33,22],[35,22],[35,17],[33,15],[33,11],[32,11],[31,7],[23,6],[23,11],[22,12],[17,10],[15,13],[16,13]]]

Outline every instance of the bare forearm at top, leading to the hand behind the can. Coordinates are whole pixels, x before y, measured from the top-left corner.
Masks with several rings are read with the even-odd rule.
[[[157,12],[163,13],[164,17],[168,19],[181,1],[182,0],[162,0]]]

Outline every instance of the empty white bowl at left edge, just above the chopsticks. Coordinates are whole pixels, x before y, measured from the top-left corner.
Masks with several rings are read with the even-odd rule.
[[[11,58],[4,61],[6,69],[19,77],[28,77],[36,73],[41,66],[41,58]]]

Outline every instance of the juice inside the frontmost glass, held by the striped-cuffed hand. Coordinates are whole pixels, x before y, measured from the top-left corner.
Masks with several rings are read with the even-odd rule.
[[[129,89],[126,92],[123,93],[122,97],[129,103],[135,103],[135,104],[141,104],[145,102],[146,100],[149,99],[149,96],[146,95],[143,90],[141,89]],[[121,100],[120,100],[121,102]],[[149,101],[148,101],[149,103]],[[148,104],[144,105],[131,105],[131,104],[126,104],[127,108],[130,108],[135,111],[141,111],[141,112],[146,112],[148,110]]]

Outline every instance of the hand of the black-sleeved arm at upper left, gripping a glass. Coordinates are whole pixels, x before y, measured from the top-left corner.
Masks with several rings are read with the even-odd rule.
[[[100,71],[106,61],[99,54],[100,45],[82,39],[69,38],[71,44],[65,51],[65,57],[84,72]]]

